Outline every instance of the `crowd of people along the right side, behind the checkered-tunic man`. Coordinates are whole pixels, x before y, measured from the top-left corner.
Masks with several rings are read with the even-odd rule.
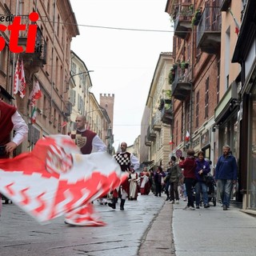
[[[230,146],[225,145],[222,150],[223,154],[218,158],[214,174],[210,173],[211,162],[205,158],[202,150],[195,156],[194,150],[189,149],[186,158],[181,157],[178,161],[172,156],[166,170],[162,166],[157,166],[156,170],[149,170],[144,166],[142,172],[134,178],[137,190],[142,195],[152,192],[156,197],[165,193],[166,201],[172,204],[179,203],[182,197],[187,202],[184,210],[200,209],[200,206],[209,208],[212,199],[210,196],[215,197],[215,190],[218,190],[223,210],[227,210],[230,207],[233,185],[237,181],[237,162]],[[209,194],[212,189],[214,195]]]

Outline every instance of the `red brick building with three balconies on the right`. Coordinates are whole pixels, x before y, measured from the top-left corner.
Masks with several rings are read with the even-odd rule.
[[[166,12],[174,22],[172,154],[186,156],[193,148],[195,153],[204,150],[214,161],[222,25],[218,1],[170,0]]]

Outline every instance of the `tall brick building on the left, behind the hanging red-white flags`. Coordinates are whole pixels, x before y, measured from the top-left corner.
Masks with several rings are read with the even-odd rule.
[[[6,39],[6,47],[1,51],[2,73],[0,74],[1,94],[8,93],[8,97],[14,98],[14,104],[18,111],[29,124],[28,142],[22,143],[20,151],[31,150],[34,144],[43,135],[66,134],[66,122],[70,112],[66,111],[68,93],[66,81],[70,77],[70,42],[79,34],[78,26],[70,1],[17,1],[6,0],[0,4],[1,13],[5,16],[18,15],[22,24],[29,26],[29,14],[33,11],[39,15],[36,22],[38,29],[36,45],[33,54],[22,52],[14,54],[10,52],[10,34],[3,32]],[[68,22],[66,22],[68,17]],[[10,25],[6,22],[5,25]],[[18,45],[26,47],[28,30],[22,30],[19,34]],[[21,98],[19,93],[13,94],[14,70],[16,63],[24,63],[26,78],[26,94]],[[35,103],[37,119],[35,123],[30,121],[33,106],[30,106],[29,95],[35,83],[41,88],[42,97]],[[68,110],[70,110],[68,108]]]

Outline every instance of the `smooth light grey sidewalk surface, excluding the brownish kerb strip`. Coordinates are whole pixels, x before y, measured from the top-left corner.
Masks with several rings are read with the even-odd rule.
[[[182,210],[175,204],[172,218],[176,256],[256,255],[256,218],[230,206],[224,211],[217,203],[210,208]]]

